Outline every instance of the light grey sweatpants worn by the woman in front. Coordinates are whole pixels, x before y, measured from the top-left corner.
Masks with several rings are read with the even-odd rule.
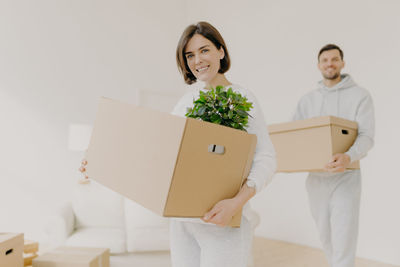
[[[240,228],[170,221],[173,267],[246,267],[253,232],[243,217]]]

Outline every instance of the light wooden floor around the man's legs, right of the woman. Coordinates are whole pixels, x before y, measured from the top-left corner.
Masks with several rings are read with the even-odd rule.
[[[255,267],[329,267],[320,249],[256,237],[253,247]],[[356,267],[399,267],[357,259]]]

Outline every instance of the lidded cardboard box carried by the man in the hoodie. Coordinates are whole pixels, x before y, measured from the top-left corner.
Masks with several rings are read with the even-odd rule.
[[[357,137],[357,123],[324,116],[268,127],[277,154],[277,172],[323,171],[332,155],[346,152]],[[348,169],[359,169],[353,162]]]

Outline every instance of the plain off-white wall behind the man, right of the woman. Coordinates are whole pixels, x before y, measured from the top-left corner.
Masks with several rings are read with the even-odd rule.
[[[290,119],[301,95],[321,79],[318,50],[336,43],[356,82],[372,94],[376,143],[362,161],[358,256],[400,265],[400,188],[395,138],[400,131],[400,1],[194,1],[188,22],[221,30],[232,56],[231,81],[254,91],[269,123]],[[259,235],[319,247],[305,174],[278,174],[256,196]]]

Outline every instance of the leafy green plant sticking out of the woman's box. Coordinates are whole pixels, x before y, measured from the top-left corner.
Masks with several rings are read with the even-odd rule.
[[[186,117],[243,131],[248,127],[248,111],[253,108],[253,103],[248,102],[246,97],[223,86],[200,91],[199,98],[194,99],[193,104],[193,108],[188,108]]]

